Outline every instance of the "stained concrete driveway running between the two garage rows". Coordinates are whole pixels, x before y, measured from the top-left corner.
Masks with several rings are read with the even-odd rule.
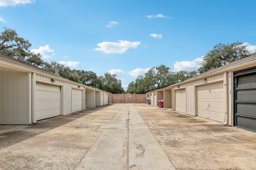
[[[0,169],[253,170],[256,133],[147,104],[0,125]]]

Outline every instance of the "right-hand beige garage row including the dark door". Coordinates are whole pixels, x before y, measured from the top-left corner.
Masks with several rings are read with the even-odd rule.
[[[146,96],[158,93],[164,108],[256,132],[256,55]]]

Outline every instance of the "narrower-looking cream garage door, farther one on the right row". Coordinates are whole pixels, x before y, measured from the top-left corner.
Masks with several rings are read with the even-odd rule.
[[[186,113],[186,89],[175,90],[176,111]]]

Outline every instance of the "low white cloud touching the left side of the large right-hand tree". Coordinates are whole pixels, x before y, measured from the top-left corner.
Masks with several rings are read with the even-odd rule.
[[[203,56],[202,56],[203,57]],[[181,61],[174,64],[175,71],[180,71],[180,70],[187,70],[187,71],[194,71],[198,70],[200,67],[199,63],[202,61],[201,58],[194,59],[193,61]]]

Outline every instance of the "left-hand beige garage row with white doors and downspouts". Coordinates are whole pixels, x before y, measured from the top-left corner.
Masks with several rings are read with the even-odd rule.
[[[0,54],[0,124],[28,125],[96,107],[101,100],[103,106],[109,94]]]

